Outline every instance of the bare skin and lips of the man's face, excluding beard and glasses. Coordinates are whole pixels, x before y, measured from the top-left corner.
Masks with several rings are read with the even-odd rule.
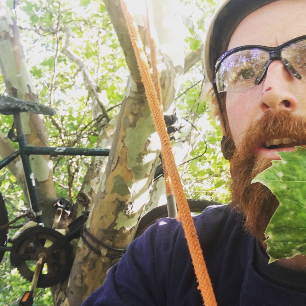
[[[290,39],[306,34],[306,1],[280,0],[264,6],[248,15],[233,33],[228,49],[244,45],[276,47]],[[239,148],[249,125],[267,112],[288,110],[306,116],[306,83],[295,78],[281,61],[273,61],[261,84],[246,93],[226,93],[226,113],[236,148]],[[284,139],[285,138],[285,139]],[[279,159],[277,151],[293,151],[291,135],[278,135],[276,144],[282,140],[284,147],[267,149],[266,135],[262,135],[253,151],[263,159]]]

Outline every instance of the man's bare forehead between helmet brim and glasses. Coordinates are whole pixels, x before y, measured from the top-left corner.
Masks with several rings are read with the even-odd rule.
[[[244,45],[276,47],[306,34],[306,0],[279,0],[245,17],[234,31],[228,50]]]

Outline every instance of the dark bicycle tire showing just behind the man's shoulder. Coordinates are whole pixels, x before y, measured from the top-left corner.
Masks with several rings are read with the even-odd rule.
[[[220,205],[220,203],[208,200],[188,199],[187,202],[192,213],[201,213],[208,206]],[[153,208],[140,219],[134,239],[142,235],[142,233],[158,219],[166,217],[168,217],[166,204]]]

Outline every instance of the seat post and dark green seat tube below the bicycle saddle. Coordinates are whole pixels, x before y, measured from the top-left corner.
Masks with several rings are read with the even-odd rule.
[[[25,179],[26,179],[30,201],[31,201],[30,204],[31,204],[33,211],[35,212],[36,221],[40,225],[43,225],[43,220],[41,216],[42,211],[40,210],[40,207],[39,207],[38,195],[37,195],[37,191],[35,188],[35,179],[34,179],[34,174],[32,172],[30,158],[29,158],[29,155],[24,152],[24,148],[27,146],[27,141],[26,141],[26,136],[24,135],[24,132],[23,132],[20,113],[15,113],[13,114],[13,116],[14,116],[16,131],[17,131],[17,141],[19,144],[21,161],[22,161],[22,165],[24,168]]]

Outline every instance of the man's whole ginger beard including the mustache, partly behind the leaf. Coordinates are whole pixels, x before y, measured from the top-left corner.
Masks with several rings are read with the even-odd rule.
[[[257,174],[271,166],[271,162],[258,157],[253,148],[270,138],[291,137],[306,142],[306,122],[302,117],[281,110],[266,112],[253,122],[244,133],[239,148],[235,149],[231,164],[231,208],[238,209],[245,217],[245,229],[260,241],[278,207],[278,200],[272,192],[260,183],[251,184]]]

